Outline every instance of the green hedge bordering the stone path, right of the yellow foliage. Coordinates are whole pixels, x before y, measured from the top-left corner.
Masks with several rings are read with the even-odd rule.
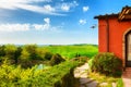
[[[34,80],[33,83],[36,86],[41,85],[45,87],[56,87],[55,84],[59,83],[59,86],[57,86],[57,87],[66,87],[63,85],[67,80],[63,77],[67,76],[68,74],[70,74],[70,76],[71,76],[72,70],[78,65],[79,65],[79,62],[70,62],[70,61],[55,65],[51,69],[49,69],[48,71],[45,71],[43,74],[39,74],[37,76],[39,79]],[[68,75],[68,77],[69,77],[69,75]],[[69,77],[69,79],[70,79],[70,77]],[[72,83],[71,82],[72,80],[69,80],[69,83],[67,83],[67,85],[68,85],[67,87],[72,86],[71,84],[73,84],[73,82]]]

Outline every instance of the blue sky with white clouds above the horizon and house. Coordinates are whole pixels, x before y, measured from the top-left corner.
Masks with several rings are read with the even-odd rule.
[[[0,0],[0,44],[98,44],[95,15],[118,13],[131,0]]]

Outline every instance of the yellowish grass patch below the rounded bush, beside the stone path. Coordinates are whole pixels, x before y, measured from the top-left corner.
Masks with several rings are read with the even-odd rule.
[[[111,76],[105,76],[98,73],[90,73],[88,77],[97,80],[99,83],[98,87],[112,87],[112,83],[116,83],[117,87],[123,87],[121,77],[116,78]],[[107,86],[100,86],[100,83],[107,83]]]

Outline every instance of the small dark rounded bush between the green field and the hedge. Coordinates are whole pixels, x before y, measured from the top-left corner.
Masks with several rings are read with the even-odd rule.
[[[56,64],[59,64],[63,61],[66,61],[66,60],[59,53],[56,53],[52,55],[52,58],[50,60],[50,64],[56,65]]]

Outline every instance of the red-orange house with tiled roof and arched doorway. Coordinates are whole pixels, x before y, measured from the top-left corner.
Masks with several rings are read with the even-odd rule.
[[[122,59],[123,66],[131,66],[131,7],[118,14],[95,16],[98,20],[99,52],[114,52]]]

